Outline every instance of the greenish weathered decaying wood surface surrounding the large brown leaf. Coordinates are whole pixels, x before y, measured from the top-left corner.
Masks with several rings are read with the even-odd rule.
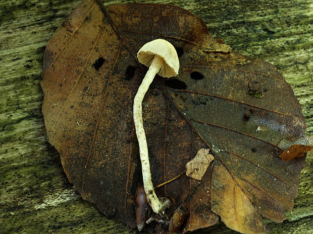
[[[80,1],[0,2],[0,233],[137,233],[84,202],[46,137],[40,88],[47,41]],[[140,2],[140,1],[127,1]],[[111,1],[107,4],[122,3]],[[273,63],[289,82],[313,133],[312,7],[306,1],[154,1],[201,17],[234,51]],[[298,197],[271,233],[313,230],[313,156],[301,173]],[[194,233],[236,233],[218,224]]]

